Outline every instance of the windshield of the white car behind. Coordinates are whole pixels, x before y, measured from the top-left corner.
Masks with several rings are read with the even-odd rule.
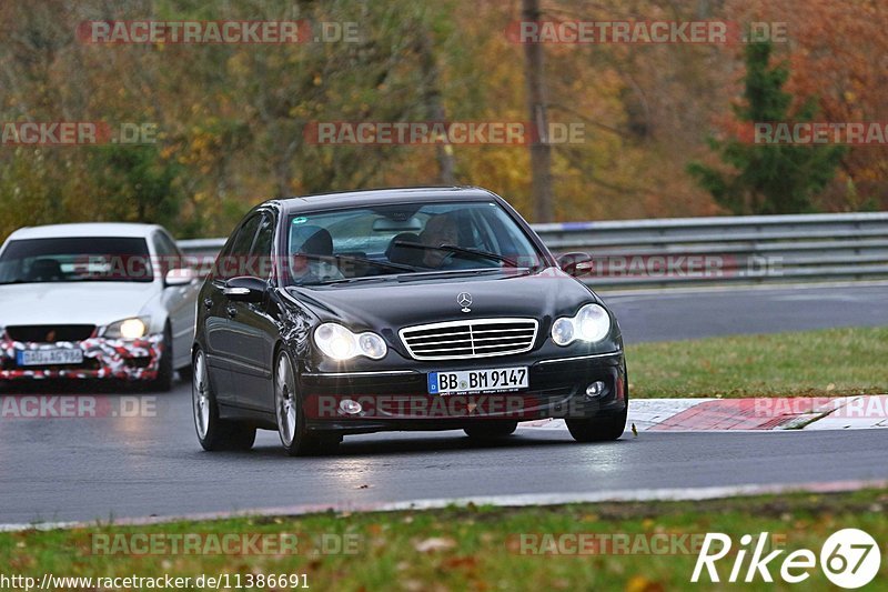
[[[0,284],[153,279],[148,244],[141,238],[13,240],[0,255]]]

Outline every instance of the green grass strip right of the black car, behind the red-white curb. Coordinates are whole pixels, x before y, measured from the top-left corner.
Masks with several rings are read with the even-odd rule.
[[[886,393],[888,328],[642,343],[626,361],[635,398]]]

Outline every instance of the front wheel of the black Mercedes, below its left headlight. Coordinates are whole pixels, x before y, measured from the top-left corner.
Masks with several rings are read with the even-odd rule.
[[[280,350],[274,360],[274,417],[281,444],[291,456],[332,452],[341,440],[309,432],[296,371],[286,350]]]

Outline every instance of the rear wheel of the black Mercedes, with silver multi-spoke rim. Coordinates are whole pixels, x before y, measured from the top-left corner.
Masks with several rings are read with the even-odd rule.
[[[256,439],[255,425],[220,419],[209,369],[200,349],[194,352],[193,360],[191,410],[201,446],[206,451],[250,450]]]

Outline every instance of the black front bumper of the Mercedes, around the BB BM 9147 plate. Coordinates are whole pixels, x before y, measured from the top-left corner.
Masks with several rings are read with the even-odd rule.
[[[466,365],[466,370],[482,368],[477,360],[467,361]],[[514,358],[483,362],[483,368],[517,365],[525,364]],[[303,410],[310,430],[365,433],[460,429],[484,420],[588,419],[626,409],[622,351],[537,360],[526,365],[526,390],[495,394],[428,394],[427,373],[421,370],[303,372]],[[587,397],[586,388],[596,381],[604,382],[603,392]],[[362,411],[345,413],[340,408],[343,400],[356,401]]]

